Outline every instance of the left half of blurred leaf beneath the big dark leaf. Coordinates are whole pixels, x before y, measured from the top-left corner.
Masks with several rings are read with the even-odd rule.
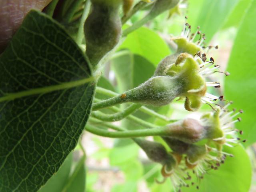
[[[40,188],[38,192],[56,192],[62,191],[65,186],[68,176],[70,173],[71,165],[72,165],[72,152],[65,159],[62,166],[60,166],[58,172],[54,174],[47,183]]]

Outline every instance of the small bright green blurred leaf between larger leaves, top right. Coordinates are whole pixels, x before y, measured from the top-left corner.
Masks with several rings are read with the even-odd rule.
[[[239,2],[236,4],[236,7],[228,17],[228,20],[224,24],[223,29],[232,26],[238,27],[251,2],[252,0],[239,0]]]

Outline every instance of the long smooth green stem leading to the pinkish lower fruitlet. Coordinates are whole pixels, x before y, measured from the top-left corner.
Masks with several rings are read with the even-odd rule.
[[[152,129],[140,129],[140,130],[126,130],[118,132],[109,132],[97,128],[96,126],[87,124],[85,128],[88,132],[93,134],[110,137],[110,138],[134,138],[134,137],[143,137],[143,136],[166,136],[169,128],[167,127],[158,127]]]

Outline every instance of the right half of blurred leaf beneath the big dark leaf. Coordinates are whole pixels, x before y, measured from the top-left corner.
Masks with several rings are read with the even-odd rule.
[[[82,156],[61,192],[85,192],[86,172],[84,162],[85,156]]]

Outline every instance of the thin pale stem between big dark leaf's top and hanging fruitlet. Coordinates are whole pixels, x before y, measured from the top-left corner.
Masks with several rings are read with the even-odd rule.
[[[84,5],[84,12],[82,14],[82,18],[80,20],[80,24],[79,24],[79,28],[76,36],[76,42],[78,45],[82,44],[82,40],[84,38],[84,22],[89,14],[90,5],[91,5],[90,0],[87,0]]]

